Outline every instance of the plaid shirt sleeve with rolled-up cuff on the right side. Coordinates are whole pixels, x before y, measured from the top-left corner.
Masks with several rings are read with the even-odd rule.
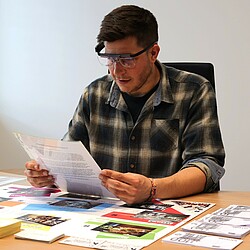
[[[225,173],[225,152],[219,127],[215,93],[209,82],[196,91],[183,134],[184,163],[181,169],[196,166],[206,175],[204,192],[219,189]]]

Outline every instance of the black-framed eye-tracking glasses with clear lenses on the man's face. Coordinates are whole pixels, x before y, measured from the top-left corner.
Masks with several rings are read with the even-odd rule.
[[[102,65],[112,66],[115,62],[119,62],[124,68],[134,68],[136,64],[135,57],[146,52],[148,49],[153,47],[156,42],[149,44],[146,48],[135,54],[112,54],[112,53],[101,53],[104,49],[104,42],[99,43],[95,47],[95,51],[98,54],[98,60]]]

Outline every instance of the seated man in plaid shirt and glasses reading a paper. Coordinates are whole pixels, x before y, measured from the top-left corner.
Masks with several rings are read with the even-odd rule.
[[[114,9],[97,40],[110,74],[87,86],[63,139],[81,141],[128,204],[217,190],[225,153],[211,84],[157,60],[157,21],[143,8]],[[36,187],[54,183],[34,161],[25,173]]]

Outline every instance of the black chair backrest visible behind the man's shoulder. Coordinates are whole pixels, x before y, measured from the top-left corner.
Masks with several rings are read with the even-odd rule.
[[[192,72],[205,77],[213,86],[215,91],[214,66],[206,62],[166,62],[163,63],[176,69]]]

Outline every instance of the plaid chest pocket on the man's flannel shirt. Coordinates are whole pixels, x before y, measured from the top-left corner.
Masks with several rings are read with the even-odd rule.
[[[178,147],[179,120],[153,120],[150,130],[151,149],[164,152]]]

